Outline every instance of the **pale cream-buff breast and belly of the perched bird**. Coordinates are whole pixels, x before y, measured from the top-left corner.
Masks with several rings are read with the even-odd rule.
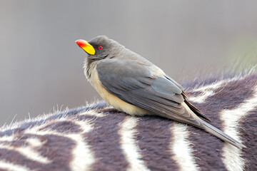
[[[103,98],[106,101],[106,103],[116,108],[116,110],[128,113],[130,115],[148,114],[148,111],[143,110],[142,108],[138,108],[136,107],[136,105],[131,105],[129,103],[126,103],[124,100],[121,100],[120,98],[116,97],[116,95],[109,93],[101,84],[101,81],[99,80],[96,66],[94,66],[94,68],[91,69],[91,78],[89,79],[89,81],[91,85],[99,93],[101,98]]]

